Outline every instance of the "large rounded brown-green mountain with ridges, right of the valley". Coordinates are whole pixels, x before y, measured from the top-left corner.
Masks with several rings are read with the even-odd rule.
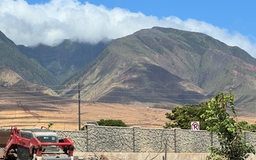
[[[112,41],[62,94],[79,82],[82,100],[163,107],[204,102],[232,89],[236,106],[255,113],[255,65],[245,50],[203,33],[154,27]]]

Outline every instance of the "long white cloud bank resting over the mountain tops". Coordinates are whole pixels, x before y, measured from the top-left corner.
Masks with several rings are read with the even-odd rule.
[[[176,16],[157,18],[127,9],[107,9],[74,0],[52,0],[29,5],[24,0],[0,0],[0,31],[16,44],[53,46],[65,38],[96,43],[103,38],[120,38],[153,26],[197,31],[213,36],[230,46],[239,46],[256,57],[256,44],[240,33],[229,33],[210,23]],[[254,41],[255,42],[255,41]]]

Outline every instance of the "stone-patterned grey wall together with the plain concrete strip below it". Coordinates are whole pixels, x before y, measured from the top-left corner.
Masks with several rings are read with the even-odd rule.
[[[206,131],[93,125],[85,128],[85,131],[55,131],[60,138],[72,139],[74,155],[83,159],[104,155],[110,160],[163,160],[163,157],[166,160],[203,160],[209,154],[208,146],[218,145],[216,137]],[[9,129],[0,130],[9,134]],[[243,134],[256,149],[256,133]],[[249,159],[256,160],[256,155],[250,154]]]

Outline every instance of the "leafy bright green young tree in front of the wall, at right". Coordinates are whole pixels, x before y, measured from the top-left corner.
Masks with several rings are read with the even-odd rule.
[[[234,97],[232,90],[229,95],[220,92],[215,98],[207,103],[207,110],[201,115],[209,122],[206,129],[210,134],[216,134],[220,146],[210,146],[211,151],[207,159],[225,159],[225,160],[242,160],[247,159],[249,153],[255,154],[254,146],[247,144],[243,138],[240,127],[235,121],[237,114],[235,112]],[[226,107],[230,106],[233,112],[233,117],[230,117],[226,111]]]

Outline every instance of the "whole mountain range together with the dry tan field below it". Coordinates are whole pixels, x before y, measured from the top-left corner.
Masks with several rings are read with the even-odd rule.
[[[162,127],[166,112],[233,90],[240,119],[255,122],[256,59],[203,33],[149,28],[97,44],[16,46],[0,32],[0,127],[78,128],[122,119]]]

